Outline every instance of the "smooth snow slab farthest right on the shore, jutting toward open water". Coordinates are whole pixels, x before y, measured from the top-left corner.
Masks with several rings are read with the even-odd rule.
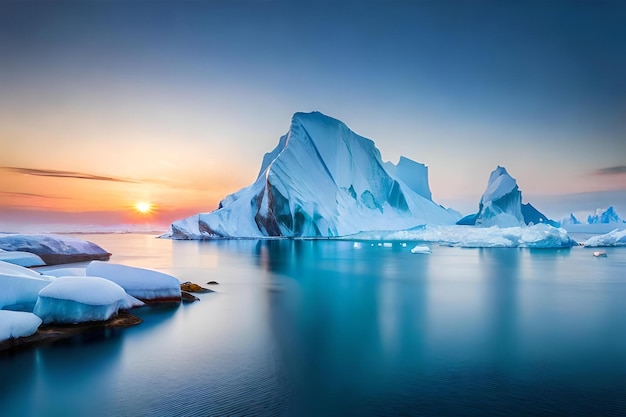
[[[140,300],[180,301],[180,281],[163,272],[93,261],[86,273],[111,280]]]

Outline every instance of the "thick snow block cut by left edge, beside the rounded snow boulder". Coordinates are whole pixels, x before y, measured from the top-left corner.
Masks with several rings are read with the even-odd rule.
[[[39,291],[53,279],[23,266],[0,261],[0,309],[32,309]]]

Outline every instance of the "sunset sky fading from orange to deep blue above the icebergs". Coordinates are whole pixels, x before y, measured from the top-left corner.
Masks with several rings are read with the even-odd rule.
[[[623,1],[0,0],[0,230],[212,211],[298,111],[427,164],[463,214],[502,165],[549,217],[626,217],[624,22]]]

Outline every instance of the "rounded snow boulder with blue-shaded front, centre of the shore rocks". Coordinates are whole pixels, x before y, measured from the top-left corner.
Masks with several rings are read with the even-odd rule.
[[[60,277],[39,292],[33,312],[43,323],[81,323],[108,320],[142,304],[108,279]]]

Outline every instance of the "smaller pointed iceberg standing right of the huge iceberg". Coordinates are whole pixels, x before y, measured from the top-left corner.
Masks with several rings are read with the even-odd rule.
[[[506,168],[498,166],[489,175],[487,189],[480,198],[478,212],[457,222],[464,226],[516,227],[545,223],[558,226],[531,204],[522,204],[522,192]]]

